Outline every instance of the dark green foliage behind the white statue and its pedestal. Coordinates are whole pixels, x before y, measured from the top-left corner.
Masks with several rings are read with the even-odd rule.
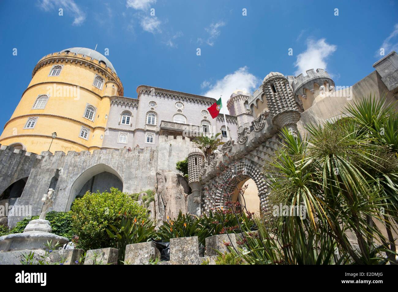
[[[39,219],[39,216],[32,216],[31,218],[24,218],[10,230],[10,233],[22,233],[29,221]],[[50,211],[46,214],[46,220],[49,220],[53,234],[59,236],[72,238],[72,212],[57,212]]]

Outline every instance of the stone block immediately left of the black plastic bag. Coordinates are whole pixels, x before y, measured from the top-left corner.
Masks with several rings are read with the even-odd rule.
[[[156,257],[160,258],[160,251],[151,241],[126,245],[125,261],[129,265],[146,265]]]

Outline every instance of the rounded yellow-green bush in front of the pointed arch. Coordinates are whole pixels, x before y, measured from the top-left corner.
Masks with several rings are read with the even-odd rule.
[[[115,246],[106,228],[109,224],[117,225],[123,215],[141,222],[147,219],[147,210],[115,188],[111,188],[110,193],[87,192],[76,199],[72,204],[72,230],[79,236],[78,248],[88,250]]]

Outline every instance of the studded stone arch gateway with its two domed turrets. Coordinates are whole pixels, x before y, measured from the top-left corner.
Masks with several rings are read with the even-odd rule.
[[[291,86],[283,74],[271,72],[265,76],[262,90],[267,99],[268,111],[260,113],[251,126],[241,126],[237,141],[228,140],[222,146],[221,153],[215,152],[207,158],[197,148],[188,155],[189,185],[195,198],[192,201],[196,203],[188,204],[189,208],[200,208],[207,213],[225,206],[225,195],[240,181],[251,178],[258,189],[260,211],[269,212],[267,197],[270,190],[263,165],[283,142],[280,135],[282,128],[298,135],[300,112]],[[195,166],[194,159],[201,161],[200,167]],[[223,172],[224,164],[230,165],[233,170]],[[229,182],[228,189],[220,187],[225,182]]]

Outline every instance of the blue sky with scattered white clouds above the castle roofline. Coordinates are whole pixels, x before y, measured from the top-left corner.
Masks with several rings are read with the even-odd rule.
[[[146,84],[222,94],[225,105],[232,91],[251,93],[271,71],[297,75],[311,68],[324,68],[336,85],[350,86],[374,70],[380,48],[398,50],[397,15],[392,0],[2,0],[0,124],[12,115],[41,57],[97,43],[98,52],[109,49],[127,97],[137,97],[137,86]]]

